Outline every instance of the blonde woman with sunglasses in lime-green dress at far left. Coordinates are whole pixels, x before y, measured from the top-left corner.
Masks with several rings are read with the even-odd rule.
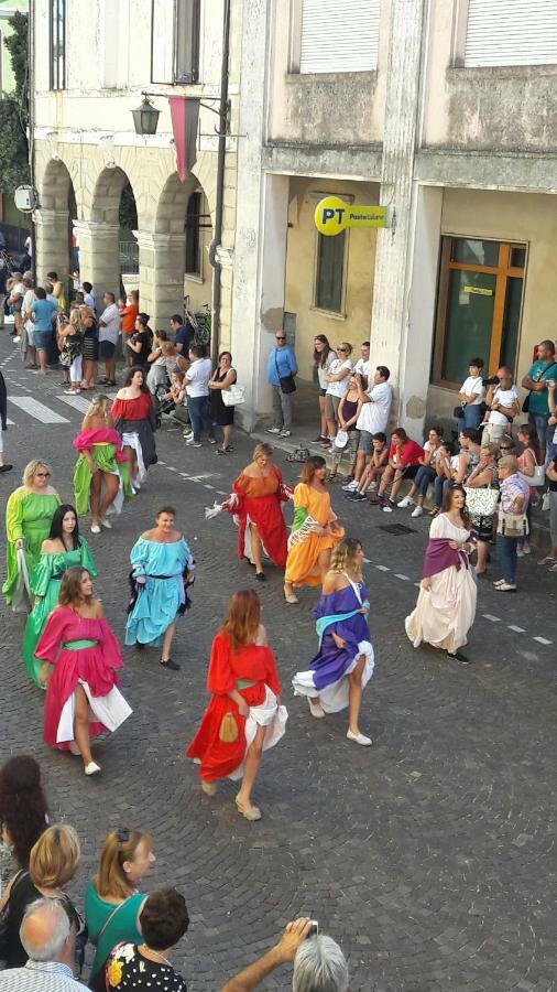
[[[8,575],[2,592],[12,604],[18,589],[18,551],[23,549],[28,573],[31,576],[41,557],[41,547],[48,537],[52,515],[62,500],[51,486],[51,470],[46,462],[33,459],[25,465],[22,483],[14,489],[6,507],[6,538]],[[14,608],[17,604],[14,603]],[[31,607],[31,604],[29,604]],[[21,606],[20,606],[21,608]]]

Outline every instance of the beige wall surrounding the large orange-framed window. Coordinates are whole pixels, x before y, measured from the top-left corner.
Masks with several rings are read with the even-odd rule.
[[[520,382],[532,363],[534,345],[557,337],[557,197],[528,193],[446,190],[441,233],[523,241],[528,246],[522,323],[516,362]],[[455,393],[429,388],[429,411],[450,416]]]

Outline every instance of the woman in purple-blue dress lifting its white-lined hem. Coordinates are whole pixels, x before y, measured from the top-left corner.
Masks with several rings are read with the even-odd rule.
[[[360,541],[345,538],[332,550],[323,594],[314,608],[319,650],[307,671],[293,680],[296,696],[306,696],[312,716],[338,713],[348,707],[349,741],[369,746],[360,731],[362,689],[373,675],[373,648],[362,583],[363,550]]]

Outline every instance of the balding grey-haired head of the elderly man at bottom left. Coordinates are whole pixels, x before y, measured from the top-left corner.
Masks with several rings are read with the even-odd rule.
[[[31,961],[64,961],[74,958],[75,934],[58,899],[36,899],[25,912],[20,940]]]

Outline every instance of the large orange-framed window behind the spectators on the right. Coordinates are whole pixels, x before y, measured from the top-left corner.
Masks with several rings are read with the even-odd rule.
[[[470,358],[484,375],[514,370],[521,326],[526,245],[482,238],[441,239],[432,380],[458,387]]]

